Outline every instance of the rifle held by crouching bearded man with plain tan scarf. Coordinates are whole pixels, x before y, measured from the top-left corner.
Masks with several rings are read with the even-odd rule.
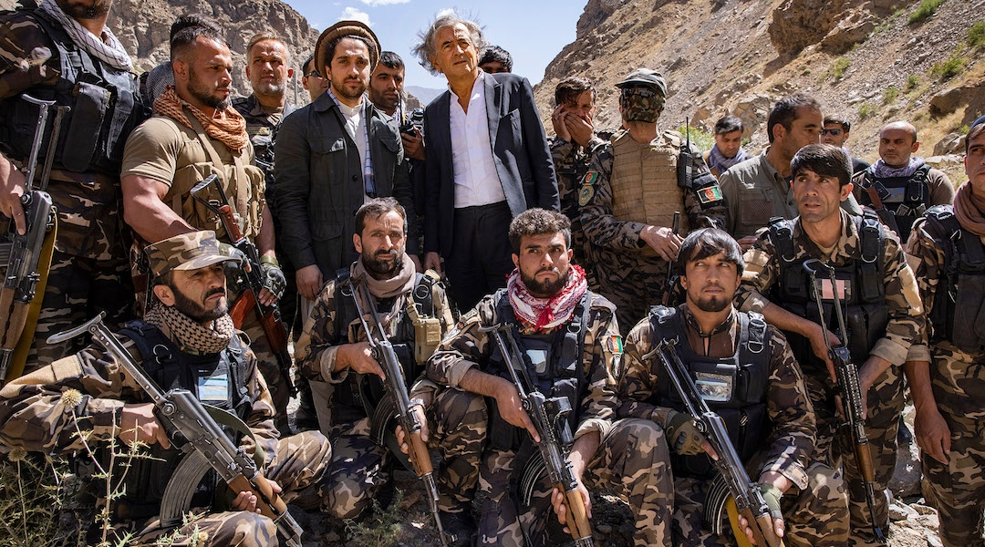
[[[404,430],[405,438],[408,440],[407,446],[409,451],[407,456],[411,461],[411,465],[414,467],[415,474],[425,484],[425,489],[427,490],[427,507],[430,510],[431,516],[434,517],[434,524],[437,526],[441,545],[448,547],[456,540],[456,537],[444,531],[441,518],[438,517],[438,494],[437,484],[434,482],[434,469],[431,466],[430,455],[427,454],[427,444],[421,438],[421,422],[418,419],[417,412],[414,411],[414,406],[421,404],[421,401],[411,400],[411,396],[407,393],[407,384],[404,381],[404,368],[400,365],[397,353],[393,350],[393,344],[390,343],[390,339],[387,337],[386,332],[383,331],[383,326],[379,322],[379,316],[376,314],[376,303],[373,300],[372,294],[369,293],[368,286],[365,283],[354,283],[351,278],[347,279],[345,283],[342,287],[342,294],[343,296],[352,298],[356,304],[356,313],[360,316],[362,331],[366,334],[366,341],[369,343],[369,347],[372,348],[373,359],[376,359],[376,362],[383,367],[383,372],[386,374],[387,396],[393,398],[393,402],[395,403],[394,410],[397,412],[396,417],[400,423],[400,427]],[[365,314],[362,313],[360,295],[357,294],[358,287],[362,288],[362,294],[369,305],[369,314],[372,316],[376,334],[373,334],[373,331],[366,324]],[[383,404],[386,404],[386,402],[380,403],[381,406]],[[385,416],[384,419],[388,422],[391,417],[392,414]],[[386,425],[385,423],[377,424],[374,421],[373,428],[376,429],[377,426],[382,428],[386,427]]]

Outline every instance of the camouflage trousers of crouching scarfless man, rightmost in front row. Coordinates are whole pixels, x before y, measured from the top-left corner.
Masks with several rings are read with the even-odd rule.
[[[848,541],[848,507],[841,474],[821,462],[807,469],[808,487],[796,486],[780,500],[789,547],[843,547]],[[674,545],[735,547],[729,523],[717,535],[704,523],[704,500],[710,481],[674,479]],[[726,519],[728,517],[725,517]]]

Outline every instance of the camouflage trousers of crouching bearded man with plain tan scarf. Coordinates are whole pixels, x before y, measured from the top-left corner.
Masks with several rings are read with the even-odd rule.
[[[384,487],[389,486],[390,471],[396,457],[387,447],[370,437],[370,419],[364,411],[340,408],[332,411],[331,485],[328,492],[330,515],[357,518],[372,506]],[[352,418],[361,413],[363,417]],[[483,397],[458,390],[437,395],[427,412],[428,447],[441,454],[435,481],[443,511],[461,512],[472,503],[478,481],[479,457],[486,440],[486,403]],[[335,421],[335,417],[343,418]]]

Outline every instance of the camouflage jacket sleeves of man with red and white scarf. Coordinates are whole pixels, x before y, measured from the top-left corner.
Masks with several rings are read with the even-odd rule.
[[[585,332],[582,363],[588,386],[577,408],[578,427],[574,437],[598,431],[604,438],[615,421],[616,370],[623,355],[623,340],[616,321],[616,307],[603,296],[591,298]],[[459,382],[472,367],[485,370],[493,355],[495,340],[480,327],[499,322],[495,297],[487,295],[475,309],[462,316],[455,329],[441,340],[427,361],[427,379],[440,387],[459,388]]]

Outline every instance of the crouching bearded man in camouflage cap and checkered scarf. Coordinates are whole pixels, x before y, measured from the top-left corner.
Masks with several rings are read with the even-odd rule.
[[[286,503],[320,509],[331,447],[317,432],[278,439],[267,384],[245,336],[227,313],[225,268],[237,259],[220,249],[211,231],[177,235],[144,253],[154,276],[153,302],[143,321],[130,322],[120,332],[123,346],[164,391],[188,390],[238,418],[247,433],[225,431],[248,455],[262,454],[260,470],[275,483],[274,491]],[[134,544],[152,544],[166,534],[174,545],[187,544],[183,541],[196,535],[196,545],[277,546],[277,526],[256,513],[256,496],[228,492],[224,483],[217,486],[209,478],[212,473],[205,475],[190,503],[206,508],[207,514],[176,528],[161,524],[167,508],[180,513],[190,509],[169,504],[173,498],[166,487],[174,481],[180,485],[194,473],[177,471],[185,455],[168,439],[154,410],[134,379],[101,347],[90,346],[0,391],[0,443],[45,455],[85,454],[88,443],[101,465],[110,461],[105,441],[118,437],[127,444],[145,443],[151,457],[116,458],[111,475],[114,484],[126,477],[123,496],[112,499],[109,509],[114,526],[137,532]],[[90,433],[77,435],[79,430]],[[127,460],[129,470],[120,466],[120,459]],[[117,541],[122,543],[111,538]]]

